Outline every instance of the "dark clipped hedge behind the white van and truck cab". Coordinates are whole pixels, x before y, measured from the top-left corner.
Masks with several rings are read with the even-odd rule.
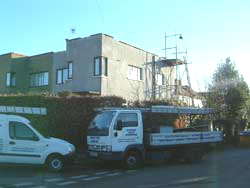
[[[95,108],[122,106],[119,97],[49,97],[49,96],[0,96],[0,105],[45,107],[48,114],[22,115],[31,120],[43,135],[61,138],[73,143],[79,150],[86,147],[86,132]]]

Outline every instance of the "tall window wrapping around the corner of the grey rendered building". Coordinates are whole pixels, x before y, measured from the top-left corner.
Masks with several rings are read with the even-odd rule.
[[[108,76],[108,58],[94,58],[94,76]]]

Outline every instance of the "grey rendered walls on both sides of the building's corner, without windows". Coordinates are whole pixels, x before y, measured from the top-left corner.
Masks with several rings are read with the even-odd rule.
[[[108,76],[94,76],[94,58],[108,58]],[[66,40],[66,51],[54,53],[53,92],[97,92],[102,96],[115,95],[128,101],[149,100],[152,98],[152,59],[154,54],[129,44],[116,41],[105,34]],[[156,73],[165,74],[165,82],[170,68],[158,62],[155,57]],[[56,70],[67,68],[73,62],[73,78],[66,83],[56,84]],[[128,66],[143,70],[143,80],[128,78]],[[175,72],[172,71],[172,75]],[[172,85],[174,78],[170,79]],[[156,86],[156,98],[170,97],[165,86]]]

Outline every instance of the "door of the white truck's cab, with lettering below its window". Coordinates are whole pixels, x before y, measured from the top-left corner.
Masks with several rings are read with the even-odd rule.
[[[123,152],[128,145],[142,144],[138,116],[136,112],[120,112],[117,115],[111,135],[113,152]]]

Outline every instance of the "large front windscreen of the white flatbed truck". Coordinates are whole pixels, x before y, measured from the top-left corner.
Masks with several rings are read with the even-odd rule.
[[[88,135],[108,136],[109,126],[115,113],[115,111],[105,111],[98,113],[90,123],[90,126],[88,128]]]

